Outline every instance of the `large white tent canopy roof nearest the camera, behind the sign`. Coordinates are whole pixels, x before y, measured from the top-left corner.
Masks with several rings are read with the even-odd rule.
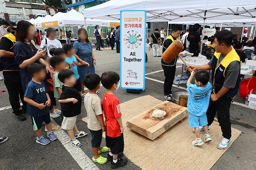
[[[120,10],[147,10],[148,22],[255,18],[255,0],[111,0],[84,9],[85,18],[120,19]],[[100,12],[95,12],[100,11]],[[206,13],[205,13],[206,11]]]

